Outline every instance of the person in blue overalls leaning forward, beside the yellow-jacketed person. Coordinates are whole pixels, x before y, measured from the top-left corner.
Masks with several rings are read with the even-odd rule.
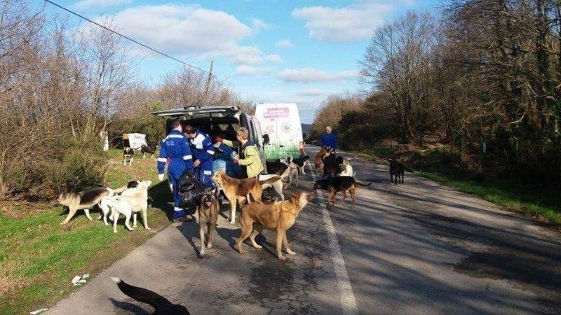
[[[192,125],[185,125],[184,132],[191,140],[191,151],[195,160],[193,162],[195,178],[200,183],[212,187],[212,158],[215,155],[215,147],[212,146],[210,137]]]

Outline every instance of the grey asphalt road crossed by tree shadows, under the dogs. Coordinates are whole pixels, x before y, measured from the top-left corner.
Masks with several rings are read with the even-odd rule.
[[[314,155],[317,148],[308,147]],[[191,314],[536,314],[561,312],[561,237],[492,204],[344,154],[357,204],[317,197],[288,232],[295,256],[232,246],[239,230],[219,217],[215,246],[197,258],[197,223],[175,223],[99,274],[50,314],[147,314],[110,276],[155,290]],[[311,190],[311,175],[299,190]],[[289,195],[286,192],[285,195]],[[341,195],[339,195],[339,198]],[[227,209],[225,206],[223,210]]]

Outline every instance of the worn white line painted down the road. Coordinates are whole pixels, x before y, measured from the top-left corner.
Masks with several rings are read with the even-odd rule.
[[[316,172],[313,171],[311,166],[309,170],[313,181],[316,182]],[[337,277],[337,287],[339,288],[339,298],[341,299],[343,314],[358,314],[353,287],[351,286],[351,281],[349,281],[349,274],[346,273],[345,260],[343,260],[341,248],[339,247],[337,232],[335,232],[329,211],[327,211],[323,191],[320,189],[316,190],[316,195],[321,197],[319,205],[322,208],[323,222],[325,223],[325,230],[327,230],[327,239],[329,239],[331,259],[335,269],[335,276]]]

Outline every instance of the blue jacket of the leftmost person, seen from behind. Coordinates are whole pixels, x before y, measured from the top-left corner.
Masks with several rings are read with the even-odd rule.
[[[158,158],[158,174],[163,174],[165,162],[170,159],[168,172],[182,174],[185,169],[193,170],[193,155],[189,148],[189,140],[182,132],[172,130],[160,145],[160,157]]]

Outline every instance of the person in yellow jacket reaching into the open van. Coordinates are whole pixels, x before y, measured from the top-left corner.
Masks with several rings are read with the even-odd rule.
[[[215,137],[215,140],[230,147],[238,146],[240,148],[239,158],[234,158],[234,163],[241,166],[245,178],[251,179],[263,172],[264,167],[261,158],[259,158],[257,146],[249,138],[250,132],[242,127],[236,133],[238,143],[220,137]]]

